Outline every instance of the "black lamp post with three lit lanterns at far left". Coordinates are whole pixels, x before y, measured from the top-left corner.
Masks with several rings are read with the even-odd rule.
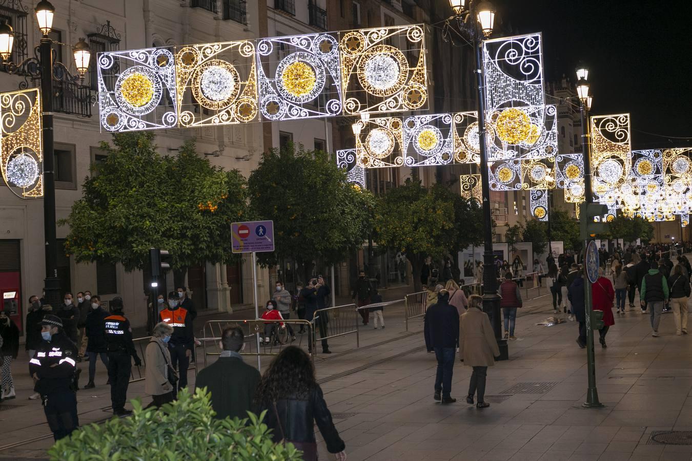
[[[24,59],[19,64],[8,62],[12,53],[15,39],[12,27],[3,23],[0,25],[0,65],[8,73],[21,72],[28,75],[34,82],[41,81],[41,100],[43,105],[43,167],[44,167],[44,238],[46,246],[46,279],[44,289],[46,303],[57,307],[60,304],[60,278],[57,276],[57,241],[55,237],[55,159],[53,156],[53,80],[58,82],[84,81],[84,73],[89,70],[91,52],[83,38],[73,46],[75,66],[78,75],[72,75],[70,70],[61,62],[53,61],[53,40],[48,34],[53,28],[55,8],[51,2],[41,0],[36,8],[36,19],[43,34],[39,46],[35,49],[35,57]],[[21,85],[20,85],[21,86]]]

